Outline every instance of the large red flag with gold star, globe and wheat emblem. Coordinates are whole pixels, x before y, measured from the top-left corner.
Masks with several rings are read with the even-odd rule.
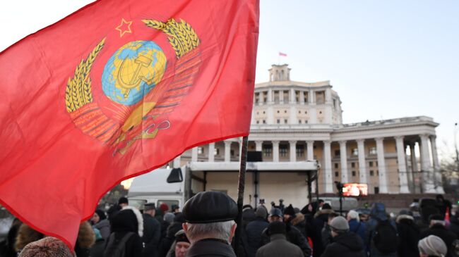
[[[74,246],[114,184],[249,134],[258,0],[97,1],[0,53],[0,203]]]

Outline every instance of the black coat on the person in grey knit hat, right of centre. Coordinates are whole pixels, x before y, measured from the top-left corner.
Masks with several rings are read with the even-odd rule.
[[[364,242],[354,232],[346,232],[333,238],[321,257],[366,257]]]

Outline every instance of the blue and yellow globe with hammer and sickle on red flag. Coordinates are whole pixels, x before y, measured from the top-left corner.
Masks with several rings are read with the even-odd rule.
[[[102,91],[118,104],[137,104],[161,81],[166,65],[167,58],[155,42],[129,42],[105,64]]]

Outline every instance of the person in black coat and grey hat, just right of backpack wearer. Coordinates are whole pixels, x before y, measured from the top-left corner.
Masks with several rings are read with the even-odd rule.
[[[399,237],[398,256],[419,256],[417,242],[421,239],[421,232],[415,224],[415,218],[413,218],[412,213],[405,210],[400,211],[396,222]]]

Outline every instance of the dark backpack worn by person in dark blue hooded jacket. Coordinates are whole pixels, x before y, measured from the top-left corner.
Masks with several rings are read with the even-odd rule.
[[[374,246],[381,253],[395,253],[398,250],[398,234],[390,220],[378,220],[374,230]]]

